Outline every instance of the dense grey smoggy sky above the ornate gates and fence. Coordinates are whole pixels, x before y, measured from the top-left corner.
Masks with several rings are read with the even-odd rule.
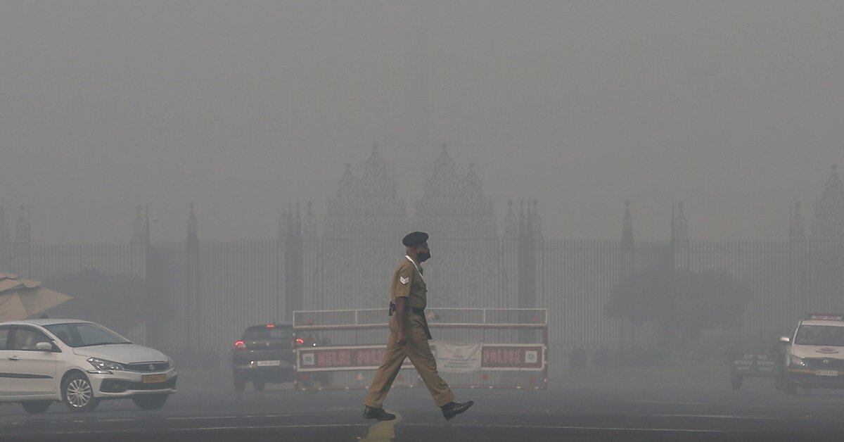
[[[844,165],[841,2],[3,2],[0,204],[35,242],[271,239],[373,143],[546,237],[787,237]],[[412,214],[411,214],[412,215]]]

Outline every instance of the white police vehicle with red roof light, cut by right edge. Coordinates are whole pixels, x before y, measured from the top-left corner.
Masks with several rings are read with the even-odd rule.
[[[791,336],[783,370],[783,389],[844,388],[844,314],[807,314]]]

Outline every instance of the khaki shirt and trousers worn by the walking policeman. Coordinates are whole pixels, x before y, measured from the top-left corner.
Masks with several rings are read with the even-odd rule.
[[[405,304],[408,310],[404,314],[404,337],[407,342],[403,346],[398,345],[397,315],[394,313],[390,316],[390,341],[387,341],[387,351],[384,352],[384,359],[378,367],[375,379],[372,379],[369,394],[364,401],[366,406],[381,408],[384,398],[390,391],[392,381],[396,379],[398,370],[402,368],[405,357],[410,358],[410,362],[414,364],[414,368],[425,381],[437,407],[454,401],[452,389],[436,371],[436,359],[428,346],[431,336],[425,314],[419,314],[413,310],[413,308],[425,308],[428,304],[428,290],[425,287],[425,280],[422,279],[422,271],[421,267],[405,257],[392,274],[390,299],[395,302],[397,297],[407,298]]]

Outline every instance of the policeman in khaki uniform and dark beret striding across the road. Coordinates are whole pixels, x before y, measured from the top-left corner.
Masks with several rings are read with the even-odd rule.
[[[392,381],[402,368],[405,357],[410,358],[419,376],[428,386],[430,396],[442,410],[446,420],[465,412],[472,407],[473,401],[459,403],[454,401],[454,393],[436,371],[436,359],[430,352],[428,340],[431,339],[428,321],[425,319],[428,290],[422,278],[421,264],[430,258],[428,234],[425,232],[409,233],[402,240],[407,254],[392,274],[390,287],[390,341],[381,366],[372,379],[369,394],[364,401],[364,417],[388,421],[396,418],[395,414],[381,408],[384,398],[390,391]]]

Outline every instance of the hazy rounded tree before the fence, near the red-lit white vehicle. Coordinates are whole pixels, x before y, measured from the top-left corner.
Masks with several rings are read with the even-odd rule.
[[[705,330],[742,325],[752,298],[748,286],[721,271],[647,270],[614,287],[604,314],[657,325],[664,344],[692,343]]]

